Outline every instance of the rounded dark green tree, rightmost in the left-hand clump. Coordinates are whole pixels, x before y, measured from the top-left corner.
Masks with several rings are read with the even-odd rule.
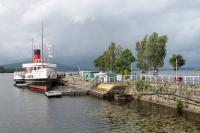
[[[125,49],[121,52],[119,58],[115,63],[115,72],[125,74],[125,70],[130,73],[131,63],[135,61],[135,57],[132,55],[131,50]]]

